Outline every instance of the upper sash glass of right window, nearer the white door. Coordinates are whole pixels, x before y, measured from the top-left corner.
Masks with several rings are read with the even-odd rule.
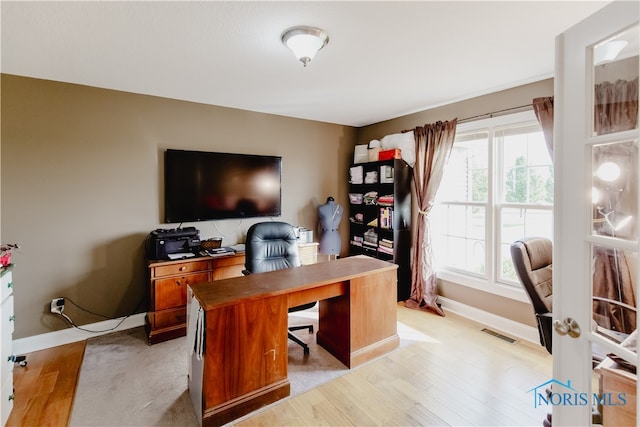
[[[553,166],[540,128],[496,132],[502,148],[503,203],[553,204]]]

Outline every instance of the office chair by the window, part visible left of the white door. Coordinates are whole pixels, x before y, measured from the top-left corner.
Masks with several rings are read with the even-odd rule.
[[[551,354],[553,244],[544,237],[525,237],[511,244],[511,260],[533,305],[540,344]]]

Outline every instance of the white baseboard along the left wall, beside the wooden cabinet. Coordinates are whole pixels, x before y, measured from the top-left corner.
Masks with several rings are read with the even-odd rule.
[[[60,331],[34,335],[32,337],[19,338],[13,340],[13,353],[18,355],[31,353],[38,350],[44,350],[45,348],[86,340],[87,338],[111,332],[124,331],[126,329],[143,326],[145,315],[146,313],[138,313],[127,317],[124,321],[120,318],[91,323],[89,325],[82,325],[83,329],[99,332],[87,332],[77,328],[68,328]],[[118,325],[121,321],[122,323]]]

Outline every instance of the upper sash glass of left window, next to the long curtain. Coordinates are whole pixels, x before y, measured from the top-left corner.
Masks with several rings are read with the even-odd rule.
[[[438,200],[487,201],[489,194],[487,139],[486,132],[461,135],[456,138],[438,189]]]

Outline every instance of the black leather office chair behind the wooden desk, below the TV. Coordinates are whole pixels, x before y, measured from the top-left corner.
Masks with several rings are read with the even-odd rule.
[[[249,227],[245,243],[245,274],[263,273],[283,268],[299,267],[298,240],[293,227],[285,222],[260,222]],[[307,310],[315,306],[312,302],[291,307],[289,313]],[[304,354],[309,354],[309,346],[291,333],[308,329],[313,333],[313,325],[290,326],[289,339],[302,346]]]

